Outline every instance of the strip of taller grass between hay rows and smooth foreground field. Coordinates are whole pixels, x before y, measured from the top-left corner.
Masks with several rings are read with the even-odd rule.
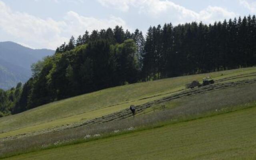
[[[17,153],[31,152],[31,150],[41,150],[42,146],[52,146],[59,143],[70,143],[76,140],[84,142],[84,136],[100,134],[103,137],[114,130],[126,130],[133,127],[136,130],[141,128],[151,128],[152,126],[184,122],[188,120],[214,116],[218,114],[234,112],[256,106],[256,83],[246,83],[228,88],[211,90],[203,94],[192,94],[160,104],[152,104],[135,118],[126,118],[104,122],[102,124],[82,125],[76,128],[59,130],[58,132],[26,135],[18,138],[8,138],[0,142],[0,157],[15,155]],[[226,84],[224,84],[226,86]],[[200,90],[204,88],[198,88]],[[196,91],[196,90],[188,90]],[[186,91],[186,92],[188,92]],[[197,92],[197,91],[196,91]],[[181,93],[179,93],[181,95]],[[186,95],[186,94],[185,94]],[[157,101],[156,101],[157,102]],[[159,108],[164,104],[166,108]],[[153,108],[158,108],[153,110]],[[113,116],[117,116],[114,114]],[[112,119],[113,116],[110,118]],[[122,116],[124,116],[122,114]],[[107,119],[102,119],[104,121]]]

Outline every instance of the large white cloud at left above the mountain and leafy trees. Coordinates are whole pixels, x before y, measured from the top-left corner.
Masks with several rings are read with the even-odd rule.
[[[63,20],[42,19],[23,12],[14,12],[0,0],[0,30],[14,37],[18,42],[30,44],[34,48],[51,48],[67,41],[71,35],[78,36],[85,30],[102,29],[122,25],[128,28],[121,18],[108,19],[84,17],[70,11]]]

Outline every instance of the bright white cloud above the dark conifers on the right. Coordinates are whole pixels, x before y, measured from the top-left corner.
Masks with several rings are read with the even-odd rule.
[[[166,20],[171,20],[174,24],[191,21],[212,23],[236,16],[234,12],[213,6],[195,12],[170,0],[98,0],[98,2],[105,7],[113,7],[123,12],[128,12],[131,7],[137,8],[140,14],[146,14],[157,19],[164,16]]]

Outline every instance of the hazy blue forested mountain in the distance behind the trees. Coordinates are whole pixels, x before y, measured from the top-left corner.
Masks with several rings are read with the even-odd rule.
[[[26,82],[31,76],[31,64],[52,54],[54,50],[34,50],[14,42],[0,42],[0,88],[6,90],[18,82]]]

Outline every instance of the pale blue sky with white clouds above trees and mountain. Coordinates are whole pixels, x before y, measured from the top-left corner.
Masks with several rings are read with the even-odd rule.
[[[146,34],[158,24],[210,24],[249,14],[256,14],[256,0],[0,0],[0,42],[55,50],[86,30],[119,25]]]

